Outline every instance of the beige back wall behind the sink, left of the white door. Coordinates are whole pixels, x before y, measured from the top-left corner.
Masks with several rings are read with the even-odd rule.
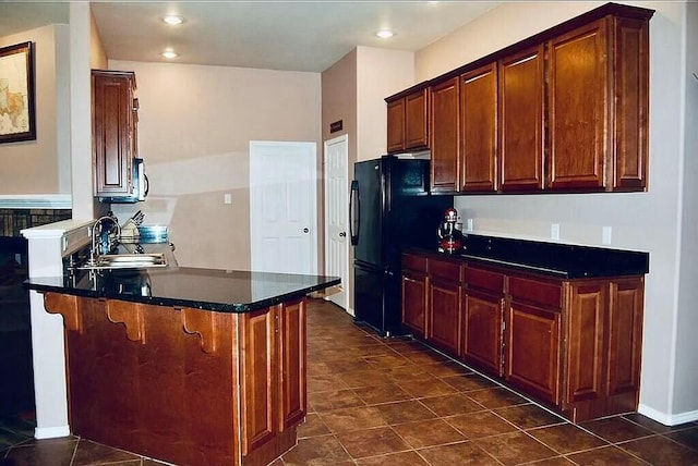
[[[250,269],[250,140],[321,138],[320,73],[109,61],[135,72],[145,203],[113,205],[125,221],[169,225],[181,266]],[[224,194],[232,204],[224,204]]]

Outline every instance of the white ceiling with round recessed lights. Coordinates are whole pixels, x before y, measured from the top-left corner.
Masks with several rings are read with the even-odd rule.
[[[322,72],[357,46],[417,51],[501,2],[493,1],[95,1],[92,11],[113,60]],[[163,23],[179,14],[180,26]],[[65,0],[0,0],[0,37],[68,23]],[[395,36],[380,39],[375,32]]]

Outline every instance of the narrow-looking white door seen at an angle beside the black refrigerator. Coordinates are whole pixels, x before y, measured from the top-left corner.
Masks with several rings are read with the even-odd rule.
[[[325,142],[325,274],[341,278],[341,286],[330,299],[349,309],[349,138]]]

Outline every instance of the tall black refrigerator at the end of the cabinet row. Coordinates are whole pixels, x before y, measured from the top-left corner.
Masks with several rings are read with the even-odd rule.
[[[436,250],[437,228],[453,196],[429,193],[429,160],[384,156],[354,164],[349,203],[357,322],[382,336],[405,334],[400,324],[400,254]]]

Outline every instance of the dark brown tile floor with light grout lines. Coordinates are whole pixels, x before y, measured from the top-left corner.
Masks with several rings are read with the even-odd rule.
[[[273,466],[698,465],[698,422],[629,414],[575,426],[420,343],[381,340],[322,301],[310,303],[308,336],[308,418]],[[31,421],[0,424],[0,465],[159,464],[32,432]]]

